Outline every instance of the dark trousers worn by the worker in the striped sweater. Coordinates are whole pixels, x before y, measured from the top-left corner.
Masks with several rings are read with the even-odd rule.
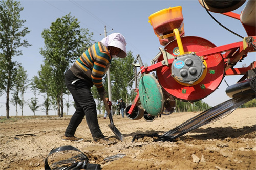
[[[65,136],[74,136],[78,125],[82,122],[83,117],[86,116],[86,122],[93,139],[103,138],[104,135],[99,128],[96,103],[90,91],[90,84],[82,80],[71,84],[76,79],[78,78],[70,70],[66,72],[65,85],[73,96],[76,111],[70,119],[69,125],[65,131]]]

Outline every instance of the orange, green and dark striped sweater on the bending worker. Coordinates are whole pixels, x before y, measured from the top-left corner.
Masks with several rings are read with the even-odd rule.
[[[101,93],[105,91],[102,77],[109,69],[110,63],[111,55],[108,49],[101,42],[97,42],[76,60],[70,70],[76,77],[89,81],[91,86],[95,85]]]

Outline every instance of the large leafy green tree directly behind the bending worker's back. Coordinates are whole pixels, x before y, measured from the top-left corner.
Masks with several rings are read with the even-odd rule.
[[[40,53],[52,67],[52,89],[58,106],[58,115],[63,116],[63,94],[67,93],[64,78],[70,63],[73,63],[85,50],[84,44],[91,46],[88,29],[80,29],[79,22],[70,14],[52,22],[50,29],[44,29],[42,38],[45,47]]]

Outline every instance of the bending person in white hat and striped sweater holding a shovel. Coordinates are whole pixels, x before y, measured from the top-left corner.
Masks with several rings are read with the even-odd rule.
[[[65,74],[65,85],[71,92],[76,111],[70,119],[62,140],[82,141],[77,138],[77,127],[86,116],[86,122],[95,142],[108,142],[100,130],[96,103],[91,93],[95,85],[101,100],[105,98],[102,77],[110,67],[112,58],[125,58],[126,41],[122,34],[112,33],[86,50]]]

